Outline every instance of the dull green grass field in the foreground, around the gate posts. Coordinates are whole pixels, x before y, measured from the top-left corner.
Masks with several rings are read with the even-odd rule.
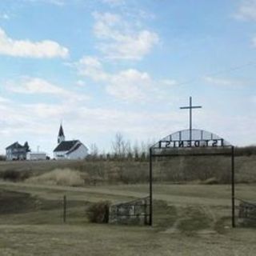
[[[256,186],[238,185],[255,201]],[[66,224],[62,197],[67,197]],[[89,202],[126,202],[148,186],[0,182],[0,255],[255,255],[256,230],[230,228],[230,186],[154,185],[154,226],[92,224]]]

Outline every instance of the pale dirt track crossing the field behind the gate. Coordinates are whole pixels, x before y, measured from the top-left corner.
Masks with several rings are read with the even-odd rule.
[[[124,200],[130,200],[133,198],[145,198],[147,192],[138,192],[130,190],[115,189],[111,186],[90,186],[90,187],[72,187],[72,186],[51,186],[51,185],[40,185],[30,184],[24,182],[0,182],[2,188],[8,190],[16,190],[19,192],[30,192],[34,195],[41,196],[42,198],[56,198],[60,194],[69,194],[70,197],[74,197],[76,200],[89,200],[98,201],[99,198],[102,200],[111,200],[113,202],[122,202]],[[124,185],[126,186],[126,185]],[[122,186],[121,186],[122,187]],[[181,187],[183,189],[184,187]],[[169,204],[184,205],[184,204],[195,204],[204,206],[229,206],[230,199],[220,198],[202,198],[202,197],[191,197],[190,195],[177,195],[177,194],[163,194],[154,192],[153,195],[156,200],[163,200]]]

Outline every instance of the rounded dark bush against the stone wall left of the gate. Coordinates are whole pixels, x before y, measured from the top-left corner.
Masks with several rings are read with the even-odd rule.
[[[109,221],[110,202],[94,202],[86,210],[87,218],[94,223],[107,223]]]

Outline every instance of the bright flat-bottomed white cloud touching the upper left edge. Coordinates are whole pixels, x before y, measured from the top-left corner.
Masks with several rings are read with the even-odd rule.
[[[14,40],[9,38],[6,32],[0,28],[0,54],[30,58],[66,58],[69,50],[60,46],[58,42],[50,40],[42,42]]]

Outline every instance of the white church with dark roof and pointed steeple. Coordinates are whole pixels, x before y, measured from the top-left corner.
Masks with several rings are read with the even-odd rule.
[[[54,158],[57,160],[78,160],[88,155],[88,149],[79,140],[66,141],[62,124],[58,131],[58,146],[54,149]]]

